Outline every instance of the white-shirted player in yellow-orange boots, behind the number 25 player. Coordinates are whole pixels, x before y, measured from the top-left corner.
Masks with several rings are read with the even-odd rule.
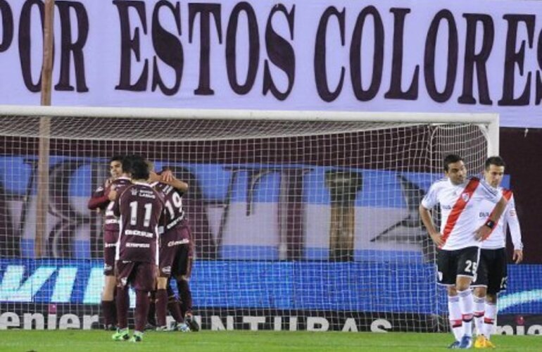
[[[508,270],[506,268],[506,228],[510,227],[514,254],[512,260],[521,263],[523,260],[522,233],[515,209],[514,194],[510,189],[500,187],[505,172],[505,162],[500,156],[492,156],[486,160],[484,179],[491,187],[498,188],[508,200],[503,216],[496,222],[493,232],[481,243],[480,263],[474,287],[474,324],[477,328],[477,339],[474,347],[495,347],[491,341],[493,324],[497,317],[497,295],[506,289]],[[493,203],[483,201],[479,211],[478,222],[483,224],[493,213]]]

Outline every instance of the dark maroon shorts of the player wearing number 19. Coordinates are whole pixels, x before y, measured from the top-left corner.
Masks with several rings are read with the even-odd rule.
[[[190,276],[192,271],[193,242],[187,226],[174,227],[160,238],[160,265],[158,276]]]

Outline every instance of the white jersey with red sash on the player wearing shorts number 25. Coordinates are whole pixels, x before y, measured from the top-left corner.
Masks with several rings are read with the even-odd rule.
[[[441,206],[441,234],[444,244],[441,249],[454,251],[467,247],[479,247],[474,232],[480,227],[478,216],[481,200],[493,204],[500,201],[502,194],[476,177],[470,177],[462,184],[453,184],[448,178],[431,184],[422,200],[422,206],[431,209],[437,203]]]

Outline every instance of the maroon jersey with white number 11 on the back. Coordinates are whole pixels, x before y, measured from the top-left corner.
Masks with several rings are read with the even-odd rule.
[[[158,265],[158,225],[164,208],[162,195],[149,184],[127,187],[113,204],[120,217],[117,260]]]

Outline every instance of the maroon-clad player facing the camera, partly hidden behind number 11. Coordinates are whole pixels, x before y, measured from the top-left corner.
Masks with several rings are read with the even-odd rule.
[[[114,330],[116,321],[115,308],[115,248],[118,239],[118,220],[113,215],[113,202],[109,196],[131,184],[130,178],[122,171],[122,156],[113,156],[109,160],[111,177],[100,186],[89,199],[90,210],[105,210],[103,224],[103,276],[104,284],[101,293],[101,311],[106,330]]]

